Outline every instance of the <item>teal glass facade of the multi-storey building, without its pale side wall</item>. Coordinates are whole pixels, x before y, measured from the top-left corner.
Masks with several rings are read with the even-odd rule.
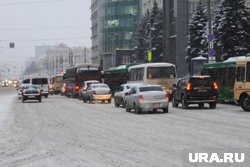
[[[140,18],[140,1],[102,1],[103,69],[118,66],[115,50],[133,49]],[[130,55],[132,56],[132,55]]]

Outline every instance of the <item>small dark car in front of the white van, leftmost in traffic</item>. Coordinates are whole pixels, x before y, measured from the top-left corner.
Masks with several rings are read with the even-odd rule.
[[[39,86],[28,85],[24,87],[22,90],[22,102],[24,103],[26,100],[38,100],[42,102],[42,90],[40,90]]]

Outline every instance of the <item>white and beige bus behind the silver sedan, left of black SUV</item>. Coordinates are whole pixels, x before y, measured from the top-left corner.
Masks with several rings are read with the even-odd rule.
[[[177,82],[176,67],[170,63],[146,63],[129,67],[128,83],[161,85],[172,97],[172,86]]]

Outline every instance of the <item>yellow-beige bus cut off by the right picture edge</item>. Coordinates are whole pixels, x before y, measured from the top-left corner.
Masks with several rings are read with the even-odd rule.
[[[250,111],[250,57],[236,62],[234,100],[245,111]]]

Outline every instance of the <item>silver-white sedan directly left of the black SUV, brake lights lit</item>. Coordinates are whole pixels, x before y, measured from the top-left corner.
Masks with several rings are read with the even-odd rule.
[[[157,109],[167,113],[169,99],[159,85],[137,85],[126,93],[125,106],[127,112],[133,109],[137,114],[146,111],[156,112]]]

